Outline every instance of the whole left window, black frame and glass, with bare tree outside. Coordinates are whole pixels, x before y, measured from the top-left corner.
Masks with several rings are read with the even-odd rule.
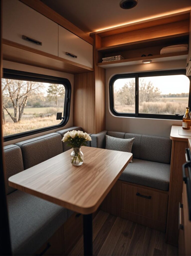
[[[1,84],[4,141],[56,129],[68,122],[68,79],[3,69]],[[56,120],[57,112],[62,112],[62,120]]]

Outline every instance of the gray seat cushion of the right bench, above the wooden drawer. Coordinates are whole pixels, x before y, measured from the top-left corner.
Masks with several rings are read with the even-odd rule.
[[[170,164],[133,159],[119,180],[164,191],[169,190]]]

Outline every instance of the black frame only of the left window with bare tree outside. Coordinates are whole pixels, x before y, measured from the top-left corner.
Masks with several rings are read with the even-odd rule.
[[[22,138],[22,137],[26,137],[29,135],[50,131],[53,129],[63,127],[67,124],[67,122],[69,120],[69,115],[70,115],[70,101],[71,101],[71,83],[67,78],[47,76],[47,75],[43,75],[43,74],[18,71],[18,70],[12,70],[12,69],[5,69],[5,68],[3,69],[3,77],[2,78],[63,84],[63,86],[65,87],[65,99],[64,99],[64,105],[63,105],[64,119],[62,119],[61,123],[52,125],[52,126],[48,126],[48,127],[44,127],[44,128],[39,128],[39,129],[32,130],[32,131],[27,131],[27,132],[4,136],[3,137],[4,141],[15,140],[17,138]]]

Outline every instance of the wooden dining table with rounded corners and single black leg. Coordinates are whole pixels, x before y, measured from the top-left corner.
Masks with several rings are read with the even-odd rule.
[[[82,146],[84,162],[74,166],[71,150],[9,178],[9,186],[83,215],[84,255],[92,255],[92,213],[132,159],[132,153]]]

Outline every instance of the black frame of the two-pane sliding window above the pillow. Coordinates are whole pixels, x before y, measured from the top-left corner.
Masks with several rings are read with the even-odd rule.
[[[110,100],[110,110],[115,116],[121,117],[137,117],[137,118],[153,118],[153,119],[171,119],[171,120],[182,120],[184,115],[165,115],[165,114],[142,114],[139,113],[139,78],[148,76],[170,76],[170,75],[186,75],[185,69],[178,70],[165,70],[165,71],[152,71],[152,72],[138,72],[138,73],[127,73],[127,74],[116,74],[109,82],[109,100]],[[135,78],[135,113],[119,113],[114,108],[114,93],[113,84],[117,79],[121,78]],[[188,106],[191,109],[191,77],[188,76],[190,80]],[[185,106],[186,107],[186,106]]]

